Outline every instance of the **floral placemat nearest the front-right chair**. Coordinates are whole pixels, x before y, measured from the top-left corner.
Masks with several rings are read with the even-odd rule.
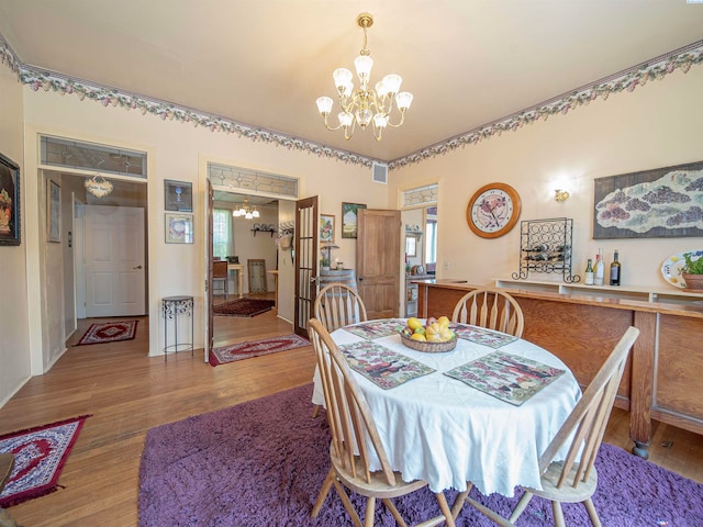
[[[445,375],[520,406],[562,373],[563,370],[536,360],[493,351],[447,371]]]

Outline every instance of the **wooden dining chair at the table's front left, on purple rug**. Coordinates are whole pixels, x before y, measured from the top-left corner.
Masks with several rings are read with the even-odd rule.
[[[332,434],[330,445],[332,467],[315,501],[312,517],[317,517],[334,485],[355,527],[373,525],[378,498],[390,511],[398,524],[406,527],[405,520],[391,500],[424,489],[427,483],[422,480],[404,482],[402,475],[393,471],[364,392],[354,379],[344,355],[316,318],[309,321],[308,334],[322,375],[327,421]],[[376,455],[380,461],[381,468],[378,471],[370,469],[372,455]],[[347,489],[366,496],[364,523],[349,500]],[[422,525],[429,527],[446,522],[448,526],[454,527],[451,511],[444,493],[435,493],[435,497],[442,514],[425,520]]]

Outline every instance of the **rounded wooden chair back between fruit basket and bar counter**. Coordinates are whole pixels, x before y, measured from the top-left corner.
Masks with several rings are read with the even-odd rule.
[[[451,322],[471,324],[522,337],[525,317],[510,294],[494,289],[475,289],[457,302]]]

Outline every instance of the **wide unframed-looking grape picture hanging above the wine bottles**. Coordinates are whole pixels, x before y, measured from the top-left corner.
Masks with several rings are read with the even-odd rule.
[[[703,161],[594,180],[593,238],[703,236]]]

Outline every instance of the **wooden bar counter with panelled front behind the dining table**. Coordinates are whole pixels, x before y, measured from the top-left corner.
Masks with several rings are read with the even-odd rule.
[[[464,294],[483,287],[460,280],[417,284],[420,317],[450,317]],[[639,328],[615,402],[629,412],[635,455],[648,457],[651,419],[703,435],[703,305],[501,289],[523,310],[523,338],[559,357],[582,388],[625,329]]]

